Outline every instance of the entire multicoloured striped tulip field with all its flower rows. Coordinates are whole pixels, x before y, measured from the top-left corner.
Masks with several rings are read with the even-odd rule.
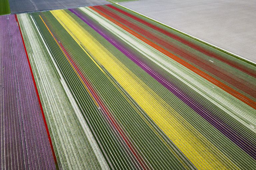
[[[255,169],[254,63],[118,4],[0,29],[2,169]]]

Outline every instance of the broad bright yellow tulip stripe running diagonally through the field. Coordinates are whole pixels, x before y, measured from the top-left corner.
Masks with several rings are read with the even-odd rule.
[[[238,169],[67,12],[55,10],[51,13],[74,40],[79,45],[85,46],[96,60],[108,70],[198,169]]]

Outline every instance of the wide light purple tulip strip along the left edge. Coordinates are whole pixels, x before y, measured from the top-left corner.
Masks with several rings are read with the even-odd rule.
[[[0,16],[0,30],[0,167],[53,169],[53,154],[15,16]]]

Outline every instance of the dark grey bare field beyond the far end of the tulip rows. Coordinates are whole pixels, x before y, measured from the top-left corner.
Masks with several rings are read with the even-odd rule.
[[[106,0],[9,0],[11,13],[44,11],[108,4]]]

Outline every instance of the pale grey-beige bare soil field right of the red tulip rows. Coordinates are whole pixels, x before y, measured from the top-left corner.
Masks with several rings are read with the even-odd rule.
[[[141,0],[119,4],[256,62],[255,0]]]

